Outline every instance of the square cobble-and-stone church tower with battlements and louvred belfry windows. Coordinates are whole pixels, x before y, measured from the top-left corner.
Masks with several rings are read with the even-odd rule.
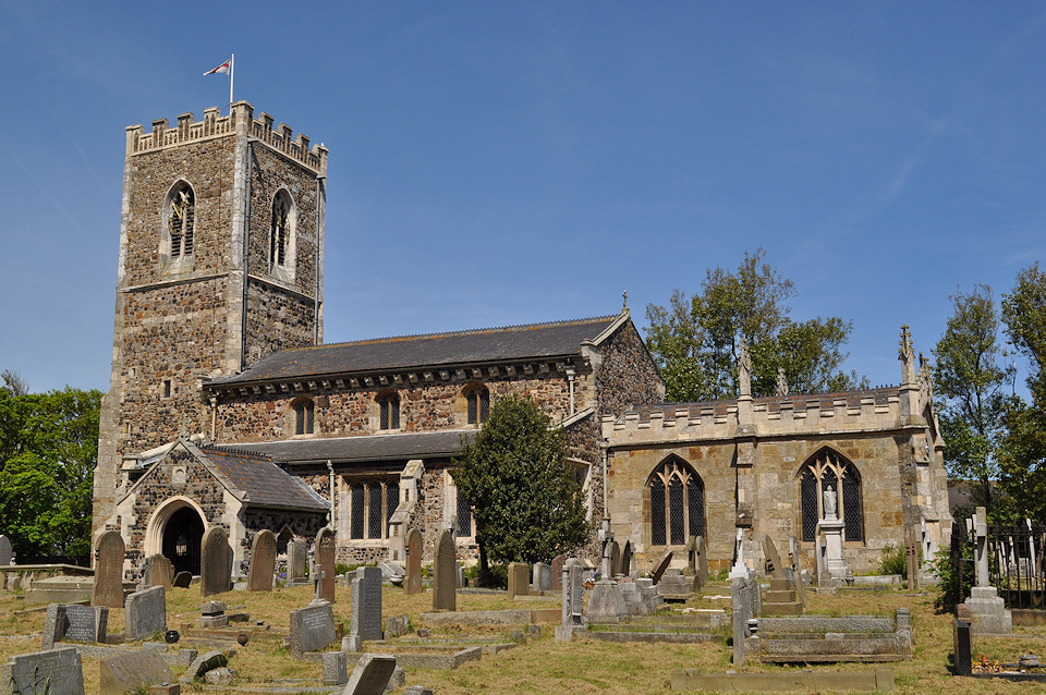
[[[323,145],[246,101],[126,129],[95,534],[138,454],[211,436],[204,380],[323,342],[326,175]]]

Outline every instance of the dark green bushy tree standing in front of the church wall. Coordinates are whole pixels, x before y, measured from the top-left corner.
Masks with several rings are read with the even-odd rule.
[[[567,462],[567,434],[540,406],[508,395],[454,459],[454,484],[473,505],[479,574],[489,562],[548,562],[592,533],[584,492]],[[482,582],[483,580],[481,580]]]

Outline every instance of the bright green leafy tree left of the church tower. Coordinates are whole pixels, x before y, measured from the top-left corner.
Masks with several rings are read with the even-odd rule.
[[[20,557],[87,562],[101,393],[16,391],[0,388],[2,532]]]

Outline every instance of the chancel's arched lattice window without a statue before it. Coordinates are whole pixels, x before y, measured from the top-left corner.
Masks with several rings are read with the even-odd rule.
[[[705,484],[685,461],[670,456],[646,480],[650,495],[650,545],[681,546],[705,535]]]

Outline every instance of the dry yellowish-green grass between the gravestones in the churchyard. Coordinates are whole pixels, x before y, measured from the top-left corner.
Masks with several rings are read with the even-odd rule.
[[[729,595],[726,585],[714,585],[705,595],[691,599],[689,606],[697,608],[728,608],[729,600],[713,600],[710,594]],[[288,633],[289,613],[302,608],[313,597],[311,587],[280,588],[271,593],[230,592],[208,598],[226,601],[228,610],[246,610],[252,623],[234,624],[251,634],[245,647],[233,641],[228,642],[229,649],[236,649],[230,660],[230,668],[238,673],[233,687],[250,684],[271,683],[273,680],[309,680],[301,686],[319,684],[321,667],[316,661],[291,659],[282,646]],[[349,627],[350,589],[337,588],[335,619]],[[807,612],[825,615],[865,614],[892,615],[897,608],[908,607],[912,611],[915,655],[910,661],[899,661],[884,666],[893,669],[896,693],[1021,693],[1034,690],[1020,683],[999,680],[957,680],[948,670],[951,663],[952,627],[951,617],[937,614],[933,607],[933,595],[907,595],[899,592],[842,592],[837,596],[808,593]],[[426,589],[421,595],[405,596],[402,589],[384,587],[382,613],[385,617],[409,614],[412,631],[402,639],[416,638],[414,629],[428,626],[419,620],[419,614],[431,610],[433,595]],[[188,589],[172,589],[168,594],[168,627],[182,631],[183,623],[195,623],[199,617],[203,599],[198,586]],[[513,601],[504,594],[459,594],[458,609],[497,610],[523,608],[556,608],[557,599],[548,601]],[[17,613],[32,606],[15,594],[0,594],[0,658],[38,651],[40,633],[44,626],[45,611]],[[123,609],[111,609],[109,613],[109,634],[123,631]],[[265,621],[270,630],[252,629],[253,621]],[[453,625],[445,627],[429,626],[434,639],[467,639],[483,637],[488,641],[512,642],[519,638],[519,632],[526,632],[524,625],[472,626]],[[726,643],[694,645],[673,644],[616,644],[597,641],[575,641],[569,644],[557,643],[552,638],[552,623],[542,626],[540,635],[531,637],[514,649],[501,651],[495,656],[484,655],[479,661],[464,663],[454,671],[429,669],[406,669],[406,684],[423,684],[437,694],[465,694],[479,692],[520,692],[547,693],[563,691],[571,693],[648,693],[667,692],[671,673],[682,669],[700,669],[703,673],[723,673],[733,668],[731,648]],[[230,626],[234,631],[234,626]],[[1021,654],[1046,653],[1046,626],[1017,627],[1012,637],[976,638],[973,643],[974,659],[980,655],[992,660],[1017,661]],[[513,634],[516,633],[516,634]],[[234,634],[234,633],[233,633]],[[157,635],[157,638],[160,638]],[[190,641],[183,641],[185,644]],[[131,645],[125,645],[131,646]],[[331,645],[337,648],[338,645]],[[199,646],[200,650],[211,647]],[[372,647],[372,651],[382,651],[381,647]],[[98,692],[99,662],[97,658],[84,656],[84,680],[86,692]],[[876,664],[837,663],[800,666],[774,666],[749,661],[737,669],[741,672],[781,672],[802,668],[815,671],[868,671]],[[351,667],[350,667],[351,668]],[[172,667],[175,675],[183,669]],[[203,683],[187,687],[185,692],[220,693],[221,688]],[[232,692],[228,688],[226,692]]]

